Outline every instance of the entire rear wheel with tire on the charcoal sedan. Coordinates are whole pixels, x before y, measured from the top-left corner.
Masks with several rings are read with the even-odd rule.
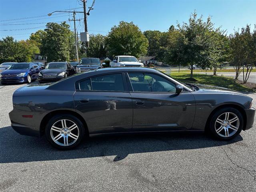
[[[75,116],[65,114],[50,119],[45,134],[52,146],[61,150],[76,147],[84,136],[84,126]]]

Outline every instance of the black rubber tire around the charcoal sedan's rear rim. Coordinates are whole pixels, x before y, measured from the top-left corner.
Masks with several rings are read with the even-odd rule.
[[[78,138],[71,145],[61,146],[61,145],[57,144],[56,142],[54,142],[53,139],[52,139],[51,128],[56,122],[58,122],[60,120],[70,120],[70,121],[74,122],[78,127],[78,130],[79,130]],[[56,116],[52,117],[50,119],[50,121],[48,122],[48,124],[46,125],[46,128],[45,128],[45,135],[46,135],[46,138],[47,138],[48,142],[50,142],[50,144],[54,148],[57,148],[57,149],[60,149],[60,150],[70,150],[70,149],[75,148],[76,146],[78,146],[78,144],[80,144],[80,142],[82,141],[82,138],[84,138],[84,133],[85,133],[85,130],[84,130],[84,126],[83,126],[82,122],[78,118],[76,118],[75,116],[70,115],[70,114],[61,114],[61,115],[56,115]],[[72,139],[70,137],[67,137],[67,138]],[[60,139],[64,140],[63,138],[60,138]]]

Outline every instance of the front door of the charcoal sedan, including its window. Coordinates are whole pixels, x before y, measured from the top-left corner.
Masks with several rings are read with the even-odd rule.
[[[128,72],[132,91],[133,131],[188,130],[195,115],[192,93],[176,94],[176,84],[154,73]]]

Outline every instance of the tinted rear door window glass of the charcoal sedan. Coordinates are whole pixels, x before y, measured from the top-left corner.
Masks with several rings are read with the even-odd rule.
[[[124,91],[122,74],[97,76],[80,82],[80,90]]]

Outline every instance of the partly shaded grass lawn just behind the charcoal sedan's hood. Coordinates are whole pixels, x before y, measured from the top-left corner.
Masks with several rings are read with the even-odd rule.
[[[206,84],[211,86],[218,86],[224,88],[230,88],[236,91],[242,92],[254,92],[251,88],[244,86],[236,82],[233,78],[224,77],[224,76],[213,76],[213,75],[204,75],[204,74],[193,74],[194,78],[197,81],[190,81],[186,80],[186,78],[190,78],[190,74],[188,73],[172,73],[171,76],[180,80],[184,83],[191,83],[191,84]]]

